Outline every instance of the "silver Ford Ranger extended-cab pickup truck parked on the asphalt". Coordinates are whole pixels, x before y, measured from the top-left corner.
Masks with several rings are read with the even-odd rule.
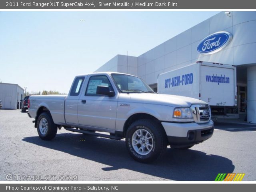
[[[120,140],[139,162],[159,158],[167,146],[188,149],[214,132],[202,100],[156,94],[142,79],[116,72],[74,78],[68,96],[30,96],[28,116],[43,140],[58,128]]]

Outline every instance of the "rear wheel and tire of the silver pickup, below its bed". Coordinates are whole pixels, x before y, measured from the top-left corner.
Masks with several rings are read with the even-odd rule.
[[[37,132],[42,140],[52,140],[56,134],[58,127],[54,124],[52,117],[48,113],[41,113],[37,120]]]

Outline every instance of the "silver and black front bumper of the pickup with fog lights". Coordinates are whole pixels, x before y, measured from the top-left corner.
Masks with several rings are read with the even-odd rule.
[[[198,144],[210,138],[214,132],[212,120],[205,124],[162,122],[170,145]]]

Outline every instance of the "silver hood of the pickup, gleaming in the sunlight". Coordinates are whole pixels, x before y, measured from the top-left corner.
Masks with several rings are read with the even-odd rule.
[[[178,95],[152,94],[152,93],[131,93],[132,102],[168,105],[172,107],[190,107],[192,104],[207,104],[206,102]]]

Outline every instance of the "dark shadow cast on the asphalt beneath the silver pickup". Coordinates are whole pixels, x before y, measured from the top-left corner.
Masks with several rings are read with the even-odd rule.
[[[23,141],[108,165],[102,167],[104,171],[128,169],[168,180],[213,181],[218,173],[232,173],[234,170],[234,165],[228,158],[206,154],[193,148],[168,148],[160,160],[142,164],[130,157],[124,140],[65,133],[57,134],[52,141],[41,140],[38,136],[26,137]]]

